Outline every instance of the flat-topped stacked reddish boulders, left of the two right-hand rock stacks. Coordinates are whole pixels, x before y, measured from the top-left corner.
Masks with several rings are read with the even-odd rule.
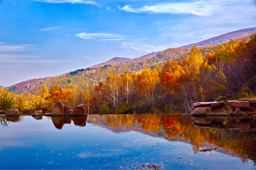
[[[226,110],[223,108],[225,102],[198,102],[194,103],[191,108],[191,115],[200,115],[200,116],[213,116],[213,115],[227,115]]]

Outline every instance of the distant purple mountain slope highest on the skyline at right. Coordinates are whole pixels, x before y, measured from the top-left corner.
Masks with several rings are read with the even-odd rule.
[[[193,46],[196,46],[198,48],[203,48],[203,47],[208,47],[208,46],[215,46],[218,44],[227,43],[230,39],[236,40],[239,38],[246,37],[246,36],[250,35],[251,31],[255,32],[256,27],[229,32],[226,34],[219,35],[217,37],[209,38],[208,40],[204,40],[204,41],[201,41],[198,43],[184,45],[179,48],[191,48]]]

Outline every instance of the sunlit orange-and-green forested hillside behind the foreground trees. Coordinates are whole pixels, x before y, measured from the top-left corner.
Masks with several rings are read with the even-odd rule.
[[[163,65],[167,60],[173,59],[187,52],[187,49],[168,48],[159,54],[157,53],[157,56],[149,57],[144,61],[133,62],[127,65],[104,65],[95,69],[78,69],[76,71],[63,73],[62,75],[58,76],[23,81],[18,84],[6,87],[5,89],[8,89],[12,91],[12,93],[16,94],[39,94],[44,84],[46,84],[47,88],[56,83],[61,88],[65,88],[70,84],[76,84],[77,86],[83,86],[87,88],[94,86],[95,84],[104,83],[107,75],[113,70],[118,70],[119,72],[123,73],[129,70],[132,73],[136,73],[146,67],[154,68],[156,65]]]

